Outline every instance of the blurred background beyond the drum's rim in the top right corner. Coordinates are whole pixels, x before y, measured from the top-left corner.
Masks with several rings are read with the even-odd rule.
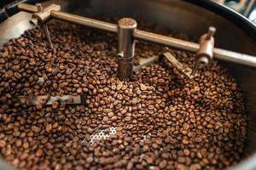
[[[216,3],[236,10],[256,24],[256,0],[213,0]]]

